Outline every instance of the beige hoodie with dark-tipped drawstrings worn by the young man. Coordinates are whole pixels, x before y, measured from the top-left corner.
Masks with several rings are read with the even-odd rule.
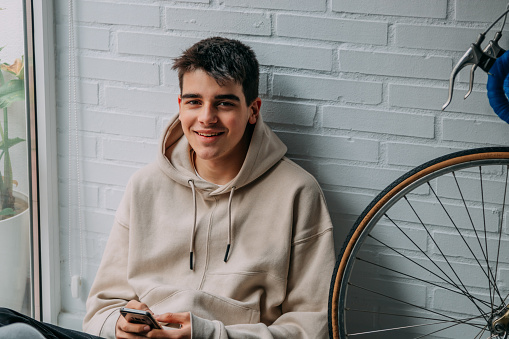
[[[127,185],[84,330],[114,338],[119,308],[136,299],[190,311],[193,338],[326,338],[335,259],[316,180],[261,119],[226,185],[200,179],[189,153],[175,117],[157,162]]]

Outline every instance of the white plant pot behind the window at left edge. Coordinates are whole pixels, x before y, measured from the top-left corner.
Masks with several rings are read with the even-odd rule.
[[[16,199],[27,196],[14,192]],[[30,276],[30,209],[0,221],[0,307],[20,312]]]

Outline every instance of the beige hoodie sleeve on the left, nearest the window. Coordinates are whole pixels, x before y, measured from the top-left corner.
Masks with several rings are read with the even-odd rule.
[[[87,299],[87,313],[83,330],[104,338],[115,338],[115,326],[120,308],[130,300],[137,299],[127,281],[127,258],[129,245],[130,185],[115,215],[108,242]]]

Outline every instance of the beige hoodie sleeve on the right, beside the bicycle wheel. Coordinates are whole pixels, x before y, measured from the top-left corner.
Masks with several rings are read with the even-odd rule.
[[[318,184],[316,184],[318,185]],[[286,298],[274,323],[225,326],[192,315],[193,338],[327,338],[332,223],[320,188],[297,199]],[[309,193],[309,192],[307,192]]]

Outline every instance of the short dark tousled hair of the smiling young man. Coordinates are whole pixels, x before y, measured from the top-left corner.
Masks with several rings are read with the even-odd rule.
[[[238,40],[212,37],[201,40],[174,60],[180,91],[184,74],[204,70],[219,85],[235,81],[242,85],[247,105],[258,97],[260,69],[253,50]]]

